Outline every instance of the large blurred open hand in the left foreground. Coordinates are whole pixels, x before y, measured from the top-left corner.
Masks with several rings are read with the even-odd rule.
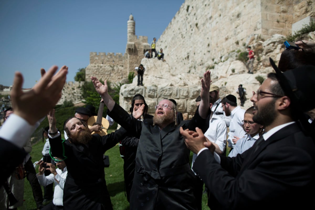
[[[49,110],[54,108],[61,98],[61,91],[66,82],[68,67],[62,66],[57,71],[57,66],[52,66],[47,73],[41,70],[42,78],[28,92],[22,91],[23,76],[15,72],[13,88],[11,92],[14,114],[34,125],[43,118]]]

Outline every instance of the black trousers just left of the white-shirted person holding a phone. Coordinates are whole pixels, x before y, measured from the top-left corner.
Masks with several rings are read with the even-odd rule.
[[[39,208],[43,204],[43,191],[36,177],[36,171],[35,171],[35,168],[33,166],[31,159],[32,157],[30,157],[30,159],[26,162],[26,164],[24,165],[24,168],[26,170],[26,178],[31,184],[36,206],[37,208]]]

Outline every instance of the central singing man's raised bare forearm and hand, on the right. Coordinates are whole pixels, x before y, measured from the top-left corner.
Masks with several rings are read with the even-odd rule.
[[[206,71],[203,74],[203,78],[201,79],[201,92],[200,92],[200,105],[199,105],[199,115],[206,119],[208,116],[209,111],[209,90],[210,90],[210,83],[211,83],[211,77],[210,77],[210,71]]]

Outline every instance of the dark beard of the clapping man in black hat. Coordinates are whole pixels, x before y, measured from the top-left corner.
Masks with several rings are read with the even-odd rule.
[[[260,110],[256,111],[256,114],[253,116],[253,121],[263,125],[264,127],[269,126],[276,118],[276,111],[274,110],[275,101],[272,103],[266,104]]]

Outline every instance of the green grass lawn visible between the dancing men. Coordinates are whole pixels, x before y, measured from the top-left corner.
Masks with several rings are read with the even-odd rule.
[[[32,152],[30,153],[32,157],[32,162],[38,161],[42,158],[42,150],[44,143],[42,141],[33,145]],[[107,150],[105,155],[109,156],[110,166],[105,168],[105,179],[109,194],[112,200],[112,206],[114,210],[128,210],[129,202],[125,197],[124,193],[124,179],[123,179],[123,159],[119,156],[118,145],[114,146],[112,149]],[[192,153],[191,153],[192,159]],[[38,172],[38,166],[36,167]],[[42,189],[43,190],[43,189]],[[203,209],[209,209],[207,206],[207,194],[203,194],[202,207]],[[31,185],[25,179],[24,182],[24,199],[26,203],[26,209],[36,210],[36,204],[33,198]]]

